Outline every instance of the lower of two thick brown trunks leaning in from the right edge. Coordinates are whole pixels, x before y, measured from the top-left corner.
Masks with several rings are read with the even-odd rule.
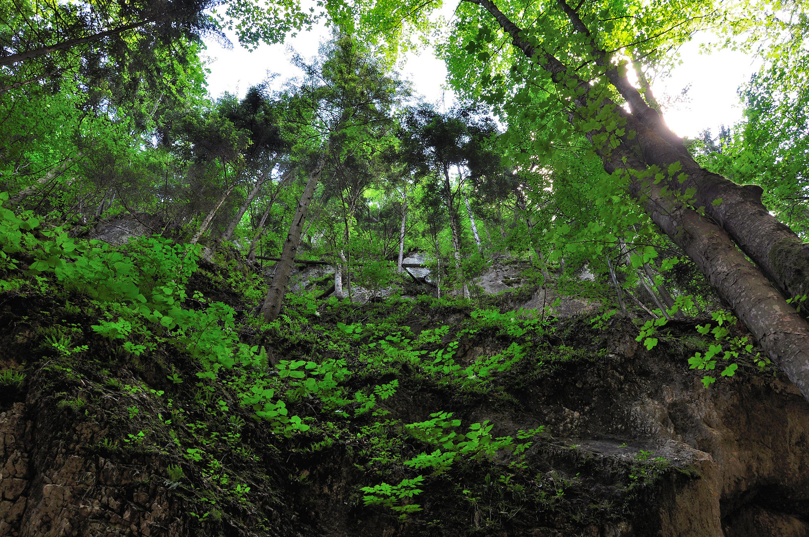
[[[528,57],[536,57],[537,51],[530,42],[523,39],[523,31],[515,23],[511,22],[506,15],[503,15],[491,0],[468,1],[476,3],[489,11],[489,14],[497,20],[498,24],[510,34],[516,47],[522,49]],[[543,60],[540,62],[542,67],[552,75],[554,82],[560,83],[565,78],[569,79],[567,67],[557,57],[547,52],[540,52],[539,55]],[[610,74],[610,70],[608,70],[608,74]],[[613,78],[610,78],[611,81]],[[621,91],[619,86],[624,82],[618,79],[617,83],[613,83]],[[628,82],[626,82],[626,85],[629,85]],[[578,107],[591,104],[591,98],[588,95],[589,83],[579,80],[578,88],[580,95],[574,99],[575,104]],[[621,91],[622,95],[625,92],[632,96],[631,91],[624,87],[624,90]],[[637,94],[637,90],[635,90],[635,93]],[[639,94],[637,94],[637,97],[640,98]],[[629,101],[630,99],[627,100]],[[642,102],[642,99],[640,101]],[[676,140],[665,137],[667,129],[663,130],[661,128],[657,113],[646,106],[646,111],[639,114],[644,117],[643,121],[641,121],[633,114],[625,112],[623,108],[612,104],[608,99],[602,99],[601,103],[603,105],[610,104],[616,115],[626,122],[625,133],[633,133],[632,139],[627,134],[620,137],[621,144],[612,151],[595,146],[596,151],[604,160],[604,170],[610,173],[616,170],[624,170],[629,175],[629,193],[646,209],[646,213],[650,215],[652,221],[674,243],[683,248],[688,257],[697,264],[720,298],[731,305],[735,314],[750,330],[761,348],[769,354],[773,362],[786,373],[803,396],[809,400],[809,323],[786,303],[786,300],[773,288],[773,285],[762,274],[762,271],[756,268],[744,256],[744,253],[737,249],[736,244],[731,240],[731,236],[735,235],[718,225],[726,226],[727,221],[749,219],[760,222],[764,226],[765,222],[768,221],[768,218],[764,215],[742,212],[744,207],[752,208],[751,205],[745,205],[745,203],[752,202],[750,196],[743,195],[744,192],[750,192],[752,189],[724,184],[723,188],[729,189],[731,193],[736,192],[739,194],[737,199],[731,203],[734,211],[727,211],[725,221],[722,221],[722,218],[708,214],[708,207],[711,205],[708,203],[705,204],[706,216],[701,216],[697,210],[683,205],[671,194],[671,185],[677,182],[679,175],[677,178],[670,177],[668,181],[660,181],[656,184],[648,179],[637,179],[638,174],[648,174],[652,171],[650,170],[650,165],[659,167],[659,163],[667,159],[666,154],[677,154],[679,151],[676,149]],[[633,105],[633,102],[630,101],[630,105],[640,108],[637,102]],[[651,125],[651,128],[647,125]],[[652,128],[657,129],[660,135],[652,132]],[[668,132],[671,133],[671,131]],[[592,136],[595,133],[589,134]],[[677,162],[677,159],[670,161],[670,163],[673,162]],[[688,173],[689,171],[686,170],[686,172]],[[708,174],[704,170],[702,172]],[[716,175],[716,177],[719,176]],[[719,179],[726,181],[721,177]],[[727,183],[730,182],[727,181]],[[707,190],[712,192],[707,194],[708,197],[722,195],[719,193],[722,189],[711,188],[711,184],[699,184],[699,186],[707,187]],[[665,191],[666,188],[668,188],[669,192]],[[758,192],[760,192],[760,188]],[[705,192],[703,192],[702,196],[706,196]],[[713,201],[713,199],[710,201]],[[724,205],[724,202],[718,206],[722,205]],[[763,205],[761,207],[763,208]],[[759,245],[768,244],[773,243],[773,240],[776,244],[781,243],[783,239],[780,237],[784,231],[775,229],[778,226],[786,227],[780,223],[777,226],[764,226],[765,231],[762,240],[753,240],[753,243]],[[739,229],[743,228],[736,229],[738,232]],[[769,236],[769,232],[772,232],[777,239]],[[754,235],[756,237],[762,236],[760,232],[755,232]],[[786,242],[794,243],[792,239]],[[742,241],[742,243],[750,244],[745,241]],[[739,245],[742,246],[742,244]],[[809,246],[805,248],[809,252]],[[759,249],[758,253],[761,254],[765,249],[766,247]],[[788,252],[799,253],[801,250],[800,248],[790,249],[785,247],[782,251],[787,255]],[[747,250],[745,250],[745,253],[747,253]],[[759,263],[755,256],[750,255],[750,257],[756,263]],[[761,266],[764,272],[768,273],[767,268],[764,265]],[[800,267],[798,266],[799,269]],[[784,280],[781,280],[781,282],[783,283]]]

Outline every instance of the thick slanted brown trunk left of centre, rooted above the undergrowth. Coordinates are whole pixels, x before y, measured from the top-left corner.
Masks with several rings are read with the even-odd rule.
[[[331,147],[331,140],[329,140],[329,147]],[[320,155],[315,169],[309,173],[309,180],[307,180],[306,187],[303,188],[303,193],[298,201],[298,209],[295,210],[294,218],[292,218],[290,232],[286,235],[286,241],[284,241],[281,260],[275,265],[273,281],[269,285],[264,304],[261,306],[261,314],[264,315],[264,319],[268,323],[275,320],[281,312],[281,304],[286,295],[286,286],[290,283],[290,274],[294,266],[295,253],[298,252],[298,245],[301,242],[303,222],[306,222],[309,204],[311,204],[311,198],[315,195],[315,188],[317,187],[317,182],[320,180],[320,174],[323,172],[324,167],[326,167],[327,155],[328,148]]]

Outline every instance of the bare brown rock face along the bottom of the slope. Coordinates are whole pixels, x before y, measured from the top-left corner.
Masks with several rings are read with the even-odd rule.
[[[467,314],[447,307],[434,315],[453,323]],[[636,333],[626,320],[614,320],[607,331],[590,328],[585,319],[560,323],[553,345],[533,348],[502,378],[507,396],[496,402],[492,392],[442,391],[401,374],[399,391],[382,407],[391,419],[423,421],[446,410],[464,423],[489,420],[497,435],[538,425],[549,433],[527,451],[536,477],[520,484],[523,490],[547,490],[544,503],[510,514],[510,502],[519,496],[481,507],[447,483],[425,487],[419,501],[426,518],[409,523],[362,507],[358,487],[370,479],[362,466],[366,446],[349,435],[326,449],[295,448],[265,459],[263,468],[244,467],[241,479],[261,491],[257,507],[218,505],[219,518],[203,524],[191,516],[199,504],[188,495],[218,486],[215,480],[175,489],[165,479],[167,459],[160,449],[102,446],[104,438],[116,437],[111,422],[126,421],[121,399],[127,392],[93,385],[89,377],[86,383],[70,381],[62,389],[88,399],[92,394],[93,405],[86,413],[71,412],[38,388],[45,373],[34,372],[28,390],[0,406],[0,537],[807,537],[809,404],[797,389],[780,375],[752,368],[705,389],[683,353],[663,345],[646,351],[634,340]],[[475,337],[459,346],[460,362],[491,353],[491,342]],[[565,352],[565,359],[549,356]],[[166,383],[165,372],[146,371],[144,378]],[[131,397],[138,398],[143,416],[158,416],[148,398]],[[248,425],[251,449],[260,455],[266,455],[262,449],[286,449],[270,449],[275,441],[263,426]],[[489,468],[483,474],[491,471],[495,481],[509,473],[497,460]],[[261,471],[289,477],[270,491],[260,488],[267,480]],[[472,477],[482,481],[482,475]],[[489,491],[501,486],[485,485]],[[509,514],[502,517],[507,531],[485,529],[491,516],[486,511],[495,507]],[[252,509],[273,526],[256,526]],[[439,518],[446,526],[437,530],[428,522]]]

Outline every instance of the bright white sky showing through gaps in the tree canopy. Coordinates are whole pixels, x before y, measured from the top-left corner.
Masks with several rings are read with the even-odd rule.
[[[447,2],[451,5],[451,2]],[[451,9],[445,11],[451,15]],[[292,49],[304,58],[317,55],[322,40],[328,38],[328,28],[315,27],[312,32],[301,32],[286,44],[262,45],[255,52],[248,52],[236,44],[233,49],[223,49],[213,41],[207,41],[205,56],[209,58],[208,89],[214,97],[223,91],[244,95],[248,87],[262,82],[270,73],[279,76],[273,83],[281,87],[288,78],[300,72],[291,65]],[[702,40],[708,39],[703,37]],[[680,49],[682,63],[671,72],[671,77],[653,83],[654,94],[661,101],[666,95],[678,95],[687,86],[688,99],[666,110],[669,127],[680,136],[696,137],[702,130],[711,129],[718,134],[719,125],[733,125],[742,117],[742,107],[736,90],[750,79],[760,63],[752,57],[731,50],[701,54],[698,41],[685,44]],[[400,70],[403,78],[413,82],[413,91],[424,95],[426,100],[447,108],[454,100],[451,91],[444,93],[443,84],[447,70],[443,61],[434,57],[431,50],[421,55],[409,54]]]

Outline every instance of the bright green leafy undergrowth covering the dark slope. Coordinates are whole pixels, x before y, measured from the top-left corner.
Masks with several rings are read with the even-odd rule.
[[[93,424],[92,453],[158,461],[152,479],[205,535],[574,535],[646,509],[674,472],[570,449],[528,408],[637,335],[629,319],[303,296],[264,323],[265,282],[237,261],[80,242],[2,210],[0,404]],[[704,345],[688,337],[660,349]]]

